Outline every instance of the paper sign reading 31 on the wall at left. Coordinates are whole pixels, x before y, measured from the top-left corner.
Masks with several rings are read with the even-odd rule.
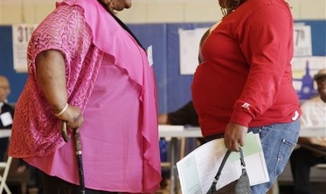
[[[27,72],[27,46],[36,24],[13,25],[13,69]]]

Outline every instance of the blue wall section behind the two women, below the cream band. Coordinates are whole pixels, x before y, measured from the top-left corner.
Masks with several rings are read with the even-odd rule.
[[[311,25],[313,56],[326,55],[326,20],[298,20]],[[155,23],[128,24],[130,30],[140,39],[143,46],[153,46],[154,70],[158,89],[158,110],[160,113],[177,110],[191,100],[192,75],[180,75],[178,29],[192,30],[209,27],[207,23]],[[109,39],[109,37],[108,37]],[[128,56],[125,56],[128,57]],[[12,30],[10,25],[0,26],[0,75],[11,82],[8,101],[15,103],[27,79],[27,73],[13,70]]]

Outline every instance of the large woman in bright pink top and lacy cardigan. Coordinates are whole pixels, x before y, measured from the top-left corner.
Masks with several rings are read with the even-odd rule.
[[[154,71],[115,11],[131,0],[67,0],[29,41],[9,155],[43,172],[46,193],[76,193],[79,129],[87,193],[154,193],[161,181]],[[69,136],[72,131],[69,131]]]

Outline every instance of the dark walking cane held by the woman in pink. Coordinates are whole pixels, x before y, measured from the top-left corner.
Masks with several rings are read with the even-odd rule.
[[[65,142],[69,141],[66,121],[62,121],[61,135]],[[83,179],[83,160],[81,157],[81,137],[79,135],[79,129],[74,129],[74,138],[75,138],[75,151],[76,151],[78,174],[79,174],[79,187],[80,187],[79,193],[85,194],[86,190],[85,190],[85,181]]]

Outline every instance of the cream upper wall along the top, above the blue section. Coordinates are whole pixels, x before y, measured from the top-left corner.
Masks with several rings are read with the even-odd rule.
[[[58,0],[60,1],[60,0]],[[325,20],[326,0],[287,0],[294,20]],[[55,8],[55,0],[0,0],[0,25],[39,23]],[[222,18],[217,0],[133,0],[118,13],[126,23],[215,22]]]

